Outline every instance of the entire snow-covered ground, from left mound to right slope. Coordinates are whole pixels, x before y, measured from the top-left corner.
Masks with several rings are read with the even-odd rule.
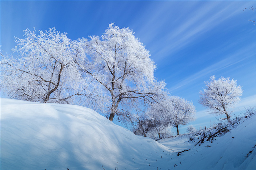
[[[0,168],[255,169],[255,119],[193,147],[190,135],[156,142],[89,108],[1,98]]]

